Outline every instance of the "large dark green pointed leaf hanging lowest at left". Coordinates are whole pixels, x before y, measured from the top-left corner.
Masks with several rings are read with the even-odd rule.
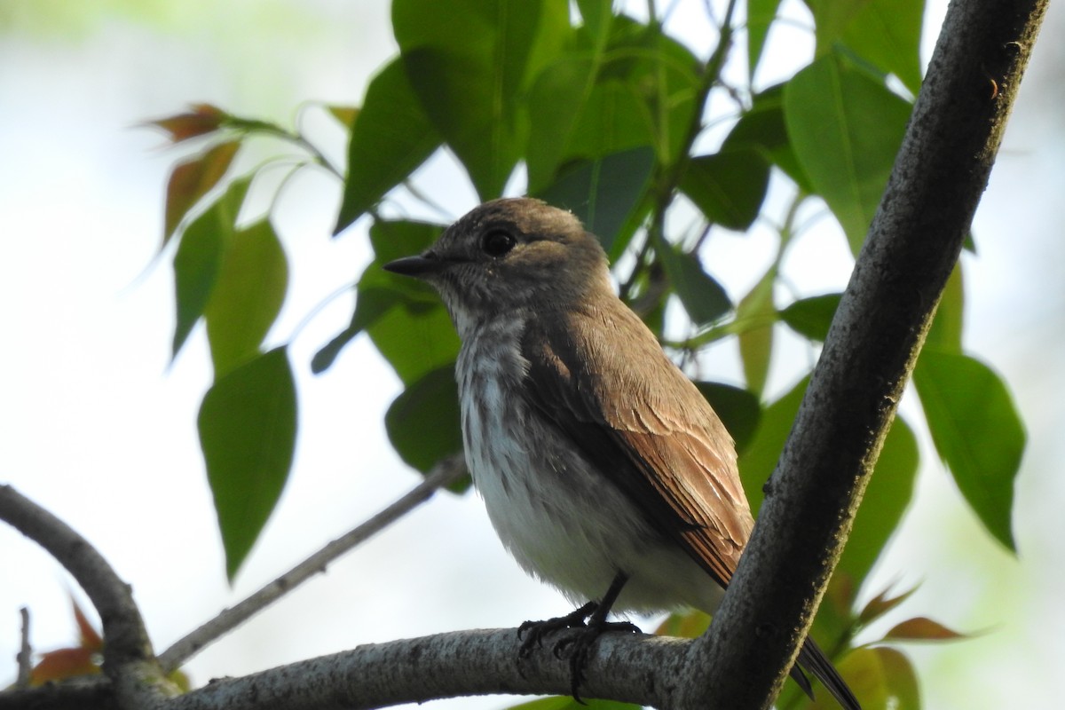
[[[203,396],[197,419],[232,581],[277,505],[296,444],[296,384],[284,348],[247,362]]]

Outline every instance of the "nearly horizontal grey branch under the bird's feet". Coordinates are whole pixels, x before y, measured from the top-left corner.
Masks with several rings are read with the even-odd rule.
[[[589,697],[668,706],[673,687],[660,674],[677,667],[690,641],[608,633],[596,642],[585,688]],[[216,680],[167,704],[167,710],[315,710],[379,708],[457,695],[570,692],[570,664],[545,644],[519,662],[517,629],[439,633],[366,644],[243,678]]]

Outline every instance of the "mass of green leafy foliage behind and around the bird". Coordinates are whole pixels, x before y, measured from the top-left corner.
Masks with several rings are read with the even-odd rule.
[[[357,109],[325,108],[348,130],[345,166],[331,165],[299,130],[209,104],[153,121],[190,150],[169,180],[162,243],[174,253],[174,354],[197,323],[207,324],[216,380],[199,425],[230,577],[283,490],[296,437],[288,343],[269,341],[288,263],[269,215],[242,220],[256,171],[232,167],[246,143],[264,136],[296,149],[295,165],[291,152],[284,156],[288,169],[315,166],[343,183],[337,234],[359,220],[370,225],[376,257],[355,286],[350,324],[321,344],[310,366],[322,373],[337,365],[344,347],[366,333],[406,387],[386,425],[411,466],[428,470],[461,446],[449,377],[459,344],[436,295],[381,264],[426,248],[445,225],[386,218],[380,207],[402,198],[435,208],[416,171],[448,150],[481,199],[501,196],[517,174],[530,194],[577,214],[616,262],[622,297],[659,336],[667,303],[679,303],[687,335],[665,343],[678,360],[697,362],[711,343],[736,339],[743,386],[699,386],[737,439],[757,509],[806,382],[767,400],[776,335],[788,329],[816,349],[839,303],[838,294],[788,295],[782,265],[788,246],[804,235],[796,216],[819,200],[850,249],[861,248],[919,88],[924,6],[809,0],[815,56],[797,61],[786,81],[759,88],[750,77],[772,40],[769,30],[785,20],[776,16],[777,0],[748,0],[741,27],[737,4],[720,3],[711,17],[717,36],[689,47],[662,18],[639,20],[608,0],[578,0],[578,15],[567,0],[394,0],[398,54],[372,79]],[[749,66],[737,80],[725,69],[743,63],[740,44]],[[710,113],[710,105],[719,108]],[[710,127],[723,136],[714,148],[701,139]],[[788,196],[783,213],[780,200],[766,199],[771,185]],[[722,230],[756,225],[775,226],[776,253],[747,293],[728,294],[704,263],[702,246]],[[1025,429],[1006,385],[963,351],[964,310],[958,266],[915,381],[938,455],[988,533],[1012,549]],[[867,707],[919,707],[910,661],[885,641],[957,637],[918,616],[854,647],[861,630],[905,598],[879,592],[857,605],[911,502],[919,463],[914,426],[899,419],[887,437],[814,629],[857,694],[869,698]],[[667,622],[672,633],[704,626],[697,616]],[[821,706],[789,686],[781,707]]]

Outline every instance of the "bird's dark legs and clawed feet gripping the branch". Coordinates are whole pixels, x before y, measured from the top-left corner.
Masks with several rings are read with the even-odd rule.
[[[581,628],[578,634],[560,639],[555,644],[555,658],[561,658],[562,654],[570,655],[570,690],[573,699],[583,703],[579,695],[580,684],[585,680],[585,666],[588,664],[588,655],[592,644],[605,631],[627,631],[628,633],[639,633],[640,629],[635,624],[628,622],[607,622],[607,614],[610,607],[618,600],[622,588],[628,581],[628,576],[618,573],[618,576],[610,582],[610,589],[603,595],[600,601],[589,601],[566,616],[548,618],[542,622],[525,622],[518,627],[518,638],[525,637],[522,647],[519,650],[520,658],[527,658],[532,650],[532,646],[542,646],[543,637],[553,631],[570,628]],[[588,620],[587,623],[585,620]],[[525,635],[527,634],[527,635]]]

